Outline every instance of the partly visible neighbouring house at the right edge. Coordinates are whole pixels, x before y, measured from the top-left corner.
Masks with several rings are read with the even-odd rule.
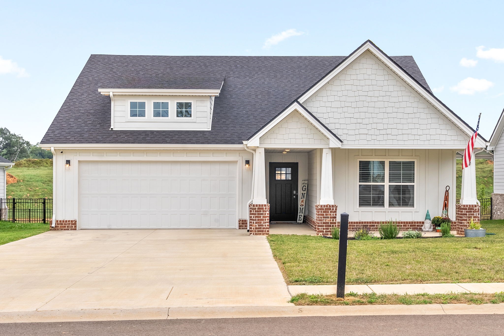
[[[492,219],[504,219],[504,110],[493,129],[487,150],[493,151]]]

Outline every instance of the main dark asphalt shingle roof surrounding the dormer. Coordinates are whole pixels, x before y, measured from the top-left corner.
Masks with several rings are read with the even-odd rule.
[[[91,55],[41,143],[241,144],[345,57]],[[391,58],[430,91],[412,56]],[[111,131],[110,98],[98,89],[163,74],[225,76],[212,130]]]

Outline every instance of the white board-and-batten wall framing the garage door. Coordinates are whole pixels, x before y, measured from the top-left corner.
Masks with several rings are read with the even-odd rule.
[[[238,218],[247,218],[247,202],[251,195],[252,167],[245,167],[244,159],[252,159],[245,150],[56,150],[55,199],[56,219],[78,219],[79,215],[79,162],[82,161],[230,161],[236,162],[240,200]],[[65,169],[65,160],[71,160]],[[254,163],[253,163],[254,164]],[[79,225],[79,223],[78,223]]]

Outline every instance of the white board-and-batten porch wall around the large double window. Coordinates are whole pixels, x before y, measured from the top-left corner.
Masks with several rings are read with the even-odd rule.
[[[349,220],[424,220],[440,216],[445,187],[450,186],[449,217],[455,219],[455,150],[452,149],[333,149],[334,202]],[[359,208],[358,159],[416,159],[415,208]],[[312,205],[308,202],[308,206]]]

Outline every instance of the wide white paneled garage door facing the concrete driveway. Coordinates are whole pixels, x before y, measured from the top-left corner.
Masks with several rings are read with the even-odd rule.
[[[236,164],[81,161],[80,227],[236,228]]]

